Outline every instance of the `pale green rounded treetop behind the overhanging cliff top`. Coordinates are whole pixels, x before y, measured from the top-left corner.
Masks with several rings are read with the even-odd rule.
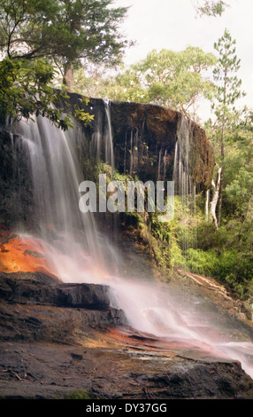
[[[107,98],[170,106],[196,118],[196,103],[211,98],[211,82],[203,78],[217,59],[200,48],[151,51],[146,59],[103,83]]]

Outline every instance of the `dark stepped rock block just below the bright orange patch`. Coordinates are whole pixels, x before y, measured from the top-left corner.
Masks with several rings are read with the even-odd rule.
[[[0,272],[0,340],[73,342],[88,327],[115,326],[108,287],[64,284],[41,272]]]

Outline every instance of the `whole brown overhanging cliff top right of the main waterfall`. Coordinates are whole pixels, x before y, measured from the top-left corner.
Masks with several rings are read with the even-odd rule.
[[[70,101],[78,105],[80,96],[71,94]],[[134,102],[111,101],[109,105],[102,99],[90,98],[85,110],[95,115],[94,122],[85,129],[87,138],[92,138],[92,149],[111,163],[108,138],[112,136],[115,167],[120,172],[135,173],[143,180],[173,180],[174,153],[180,141],[182,161],[188,163],[193,182],[211,187],[214,153],[205,131],[196,122],[170,108]],[[188,150],[179,139],[182,129],[188,130]]]

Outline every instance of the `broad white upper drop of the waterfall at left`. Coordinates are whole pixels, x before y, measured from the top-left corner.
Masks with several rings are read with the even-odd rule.
[[[49,253],[53,272],[64,281],[106,275],[101,233],[93,213],[79,209],[82,173],[77,150],[86,138],[79,127],[64,132],[48,119],[13,126],[27,153],[34,190],[36,238]],[[81,269],[80,269],[81,265]]]

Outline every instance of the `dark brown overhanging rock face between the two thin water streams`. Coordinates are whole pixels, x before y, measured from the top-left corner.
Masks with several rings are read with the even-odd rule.
[[[173,179],[180,114],[161,106],[111,103],[116,167],[142,181]]]

